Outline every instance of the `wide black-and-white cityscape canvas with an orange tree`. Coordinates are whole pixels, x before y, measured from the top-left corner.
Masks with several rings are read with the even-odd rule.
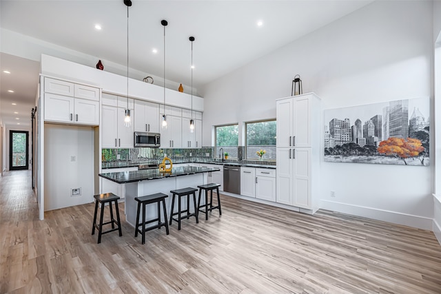
[[[429,165],[429,98],[325,110],[325,161]]]

